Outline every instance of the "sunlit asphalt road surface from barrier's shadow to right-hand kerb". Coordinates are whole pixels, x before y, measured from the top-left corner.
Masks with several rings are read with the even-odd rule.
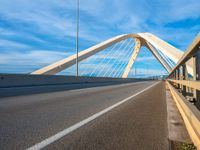
[[[146,81],[1,98],[0,149],[26,149],[43,141],[44,149],[165,150],[165,87],[162,82],[154,84]],[[85,120],[88,117],[90,121]],[[62,131],[62,138],[56,139]]]

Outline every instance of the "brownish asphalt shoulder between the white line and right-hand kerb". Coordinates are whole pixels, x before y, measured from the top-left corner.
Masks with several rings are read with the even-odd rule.
[[[48,148],[66,149],[168,149],[164,84],[138,95],[110,113]]]

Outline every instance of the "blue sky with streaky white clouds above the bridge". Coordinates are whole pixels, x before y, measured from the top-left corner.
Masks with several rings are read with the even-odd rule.
[[[200,31],[199,8],[198,0],[80,0],[80,51],[138,32],[185,51]],[[76,0],[0,0],[0,73],[30,73],[74,54],[75,42]],[[134,69],[166,74],[145,48]]]

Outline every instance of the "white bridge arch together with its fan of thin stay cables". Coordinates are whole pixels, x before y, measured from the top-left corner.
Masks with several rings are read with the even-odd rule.
[[[94,64],[96,68],[89,70],[90,72],[88,72],[86,75],[127,78],[142,46],[145,46],[152,52],[152,54],[163,65],[167,72],[172,70],[174,65],[183,55],[182,51],[159,39],[153,34],[138,33],[120,35],[81,51],[78,54],[78,61],[83,61],[89,57],[92,57],[100,51],[108,51],[107,53],[104,53],[103,59],[101,59],[98,64]],[[106,67],[106,65],[111,62],[113,62],[112,65],[114,68]],[[66,68],[71,67],[75,63],[76,54],[36,70],[32,72],[32,74],[56,74]],[[104,66],[102,66],[102,64]],[[101,67],[99,67],[99,65]],[[192,74],[191,65],[191,62],[190,64],[187,64],[187,69],[190,74]],[[87,68],[84,66],[83,68],[87,70]],[[84,71],[81,75],[84,75]]]

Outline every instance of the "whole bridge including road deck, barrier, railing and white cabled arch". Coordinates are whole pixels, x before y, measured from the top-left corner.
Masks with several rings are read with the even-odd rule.
[[[141,47],[165,79],[129,78]],[[56,75],[76,63],[80,76]],[[200,34],[185,52],[151,33],[119,35],[30,74],[1,74],[0,149],[200,149],[198,80]]]

